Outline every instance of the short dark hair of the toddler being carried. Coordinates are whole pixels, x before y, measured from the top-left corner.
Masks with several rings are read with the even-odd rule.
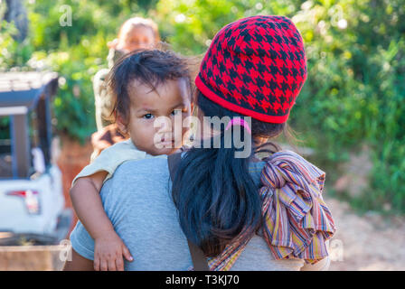
[[[108,74],[109,95],[113,98],[114,108],[111,116],[117,120],[118,115],[127,125],[129,121],[129,89],[133,80],[154,89],[166,80],[185,79],[190,96],[192,82],[189,66],[185,58],[173,51],[136,50],[126,54],[114,65]]]

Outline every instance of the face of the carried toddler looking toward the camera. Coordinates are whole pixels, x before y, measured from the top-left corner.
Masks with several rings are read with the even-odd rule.
[[[173,154],[182,146],[183,137],[189,130],[181,124],[174,129],[174,116],[180,114],[177,116],[181,116],[183,123],[184,118],[192,113],[186,80],[166,80],[155,90],[134,80],[128,86],[128,93],[131,107],[127,132],[132,142],[147,154]],[[161,126],[154,127],[157,117],[165,121],[156,122]],[[164,117],[169,117],[171,123]],[[166,147],[159,148],[159,145]]]

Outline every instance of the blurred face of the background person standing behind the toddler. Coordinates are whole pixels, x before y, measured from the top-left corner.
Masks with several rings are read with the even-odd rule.
[[[130,52],[140,48],[151,48],[155,43],[155,34],[145,25],[127,25],[118,39],[118,50]]]

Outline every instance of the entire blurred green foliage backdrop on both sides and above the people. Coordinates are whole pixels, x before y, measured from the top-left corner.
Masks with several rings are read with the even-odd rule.
[[[2,20],[0,70],[59,72],[55,125],[81,143],[96,130],[92,78],[107,68],[107,42],[127,18],[152,18],[175,51],[199,55],[224,24],[286,15],[303,35],[308,60],[290,125],[326,172],[328,194],[360,212],[405,212],[405,0],[20,2],[28,31],[23,40]],[[71,25],[63,26],[69,9]]]

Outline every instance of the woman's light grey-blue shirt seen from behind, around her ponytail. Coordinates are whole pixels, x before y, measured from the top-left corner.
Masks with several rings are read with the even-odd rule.
[[[259,186],[264,163],[250,163]],[[165,156],[129,161],[118,167],[101,190],[108,218],[134,256],[126,270],[187,270],[193,266],[170,193]],[[79,224],[71,243],[81,256],[92,259],[94,241]],[[303,260],[275,260],[265,240],[253,237],[231,270],[299,270]]]

